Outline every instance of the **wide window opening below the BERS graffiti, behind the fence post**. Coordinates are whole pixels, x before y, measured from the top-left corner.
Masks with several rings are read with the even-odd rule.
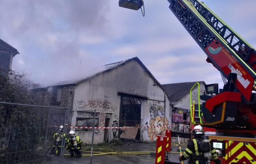
[[[89,126],[93,127],[94,112],[77,112],[76,115],[76,126]],[[94,127],[99,126],[99,116],[96,113]],[[92,131],[93,129],[78,129],[76,131]],[[98,130],[98,129],[95,129]]]

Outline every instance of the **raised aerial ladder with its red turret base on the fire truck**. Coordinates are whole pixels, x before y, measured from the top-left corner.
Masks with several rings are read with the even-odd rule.
[[[255,135],[256,95],[252,93],[256,78],[256,51],[212,12],[197,0],[168,0],[170,10],[227,79],[220,93],[214,97],[202,95],[206,101],[202,112],[195,114],[197,124],[230,130],[247,130]],[[215,85],[215,84],[214,84]],[[207,89],[216,89],[214,85]],[[244,132],[244,131],[243,131]]]

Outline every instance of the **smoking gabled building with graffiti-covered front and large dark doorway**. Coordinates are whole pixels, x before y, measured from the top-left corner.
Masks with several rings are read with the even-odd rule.
[[[71,126],[146,127],[170,125],[170,101],[165,88],[135,57],[105,65],[88,77],[33,89],[35,103],[71,109]],[[94,111],[96,110],[95,122]],[[156,140],[167,127],[99,129],[94,142],[113,138]],[[91,143],[91,129],[73,129]]]

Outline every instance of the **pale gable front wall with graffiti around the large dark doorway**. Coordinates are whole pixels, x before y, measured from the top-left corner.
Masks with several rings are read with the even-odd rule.
[[[154,116],[157,116],[153,113],[150,114],[150,108],[153,107],[157,107],[157,110],[154,111],[159,112],[160,119],[168,120],[170,123],[169,100],[163,89],[159,85],[153,84],[154,79],[136,60],[130,60],[111,71],[79,83],[75,87],[74,114],[71,126],[75,126],[77,117],[77,112],[75,111],[77,110],[89,111],[96,109],[99,116],[99,126],[105,125],[105,121],[100,122],[100,117],[105,116],[107,113],[110,114],[110,126],[114,121],[119,122],[121,96],[117,95],[118,92],[148,97],[148,100],[141,101],[141,126],[149,125],[150,120],[155,119]],[[155,130],[159,131],[159,129]],[[92,132],[76,132],[76,134],[80,136],[82,141],[91,143]],[[157,135],[157,132],[155,132],[155,135]],[[94,134],[94,143],[103,142],[103,136],[104,131],[97,130]],[[113,138],[113,130],[109,130],[109,141]],[[141,139],[150,140],[147,129],[141,129]],[[155,138],[153,139],[155,140]]]

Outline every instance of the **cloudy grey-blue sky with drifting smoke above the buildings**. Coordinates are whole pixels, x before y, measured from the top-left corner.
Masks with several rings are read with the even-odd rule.
[[[256,47],[256,1],[205,0]],[[2,0],[0,38],[17,48],[13,69],[50,84],[138,56],[160,83],[221,83],[219,72],[170,11],[146,0],[146,16],[117,0]]]

